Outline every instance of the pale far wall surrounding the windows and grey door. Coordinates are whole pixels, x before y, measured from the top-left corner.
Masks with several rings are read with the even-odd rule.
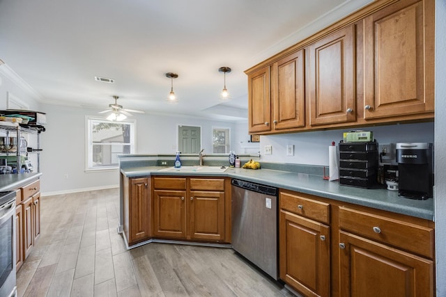
[[[86,115],[99,110],[43,104],[47,113],[47,131],[41,136],[41,190],[45,195],[117,186],[118,170],[85,172]],[[178,125],[201,127],[202,145],[207,154],[212,152],[212,128],[229,127],[231,143],[235,143],[237,127],[232,122],[144,114],[137,120],[137,154],[174,154],[177,147]],[[240,131],[247,134],[247,129]],[[68,175],[68,179],[64,179]]]

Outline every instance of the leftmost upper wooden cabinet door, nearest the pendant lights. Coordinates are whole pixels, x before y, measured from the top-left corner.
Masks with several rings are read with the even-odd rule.
[[[249,133],[271,130],[270,66],[248,75]]]

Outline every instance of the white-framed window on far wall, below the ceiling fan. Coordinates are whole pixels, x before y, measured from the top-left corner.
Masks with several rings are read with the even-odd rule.
[[[136,121],[87,119],[86,170],[118,168],[118,154],[134,154]]]

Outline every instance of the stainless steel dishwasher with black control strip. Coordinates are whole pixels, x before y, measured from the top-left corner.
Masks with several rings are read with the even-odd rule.
[[[232,179],[232,247],[275,280],[277,188]]]

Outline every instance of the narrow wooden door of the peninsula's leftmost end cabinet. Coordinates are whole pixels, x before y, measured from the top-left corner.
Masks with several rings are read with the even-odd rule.
[[[150,236],[149,189],[148,177],[130,179],[130,243],[141,241]]]

